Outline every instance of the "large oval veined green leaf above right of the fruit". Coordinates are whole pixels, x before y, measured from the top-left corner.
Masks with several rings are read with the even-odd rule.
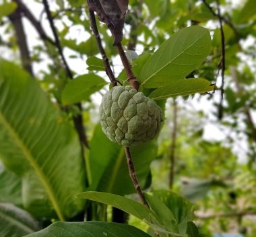
[[[210,33],[201,26],[184,28],[160,45],[139,75],[141,86],[159,88],[183,79],[210,53]]]

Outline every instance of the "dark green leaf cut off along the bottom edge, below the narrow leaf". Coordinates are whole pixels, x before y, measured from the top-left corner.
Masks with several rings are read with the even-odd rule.
[[[145,232],[127,224],[110,222],[55,222],[44,230],[26,237],[150,237]]]

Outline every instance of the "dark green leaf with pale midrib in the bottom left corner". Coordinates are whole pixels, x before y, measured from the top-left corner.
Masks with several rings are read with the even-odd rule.
[[[0,236],[20,237],[39,230],[38,222],[10,203],[0,203]]]

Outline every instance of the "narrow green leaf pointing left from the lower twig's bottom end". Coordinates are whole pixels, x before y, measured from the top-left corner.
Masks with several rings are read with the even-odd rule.
[[[142,205],[141,203],[112,193],[85,192],[79,193],[77,198],[98,201],[106,205],[117,207],[118,209],[121,209],[130,215],[134,215],[141,220],[147,219],[150,221],[150,215],[152,215],[152,217],[156,217],[154,211],[150,210],[148,207]]]

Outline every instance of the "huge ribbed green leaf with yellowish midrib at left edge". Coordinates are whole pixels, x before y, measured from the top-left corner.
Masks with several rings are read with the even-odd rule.
[[[36,81],[7,61],[0,61],[0,131],[0,157],[26,179],[22,185],[36,176],[38,189],[46,194],[40,198],[50,200],[60,219],[83,209],[75,199],[85,189],[85,172],[74,129]],[[29,190],[26,195],[33,199],[37,193]],[[47,215],[33,207],[38,217]]]

